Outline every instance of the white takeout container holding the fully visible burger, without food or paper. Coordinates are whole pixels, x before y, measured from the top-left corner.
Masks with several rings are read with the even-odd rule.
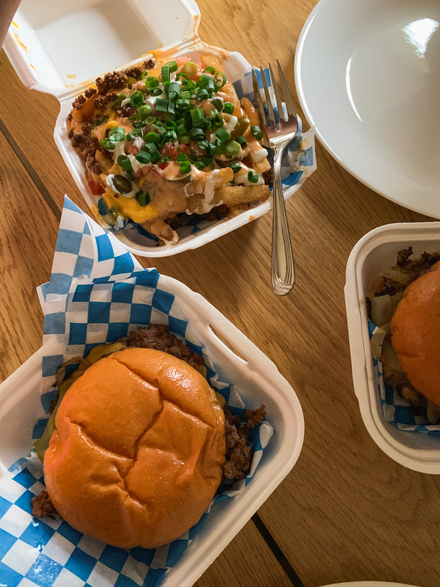
[[[229,500],[215,504],[207,521],[161,587],[190,587],[248,522],[299,457],[304,438],[303,412],[296,393],[275,364],[201,295],[177,279],[162,287],[175,296],[185,319],[216,366],[220,381],[235,384],[251,408],[266,406],[275,429],[251,482]],[[212,326],[246,360],[215,335]],[[40,402],[42,349],[0,384],[0,475],[32,448],[32,429],[44,416]]]

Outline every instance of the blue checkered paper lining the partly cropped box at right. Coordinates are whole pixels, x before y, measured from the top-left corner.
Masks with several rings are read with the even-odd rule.
[[[378,326],[369,320],[368,332],[370,334],[370,340],[376,330],[378,330]],[[430,424],[424,417],[411,414],[409,411],[409,402],[402,399],[402,397],[392,389],[391,385],[384,382],[383,364],[375,359],[373,355],[371,355],[371,357],[373,359],[375,383],[380,395],[380,402],[385,420],[399,430],[421,432],[422,434],[431,434],[431,436],[440,436],[440,426],[438,424]]]

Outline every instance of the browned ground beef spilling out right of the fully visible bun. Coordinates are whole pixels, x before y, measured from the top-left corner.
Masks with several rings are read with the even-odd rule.
[[[245,478],[251,469],[253,448],[251,445],[251,428],[261,424],[266,417],[265,406],[256,410],[246,410],[246,424],[241,426],[238,416],[233,416],[228,406],[225,412],[226,463],[224,483],[239,481]]]

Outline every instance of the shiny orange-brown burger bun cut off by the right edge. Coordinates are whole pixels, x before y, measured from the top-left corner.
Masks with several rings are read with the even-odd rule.
[[[409,381],[440,409],[440,262],[405,289],[390,330]]]

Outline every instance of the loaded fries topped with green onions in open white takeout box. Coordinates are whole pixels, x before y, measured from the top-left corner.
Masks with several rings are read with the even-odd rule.
[[[192,1],[175,2],[172,14],[148,2],[133,14],[143,42],[127,39],[133,26],[111,10],[103,18],[91,0],[83,4],[46,0],[37,15],[22,2],[5,50],[23,83],[60,100],[55,141],[100,225],[128,251],[162,257],[268,212],[272,153],[261,144],[243,56],[200,41]],[[130,10],[126,2],[127,18]],[[79,43],[74,25],[93,35]],[[100,35],[105,50],[94,45]],[[285,197],[316,168],[313,139],[299,120],[282,164]]]

